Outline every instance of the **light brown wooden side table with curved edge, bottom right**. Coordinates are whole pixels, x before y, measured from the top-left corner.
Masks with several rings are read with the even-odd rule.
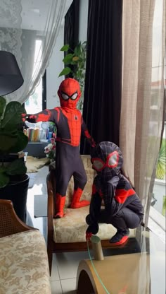
[[[151,279],[149,254],[132,253],[93,260],[95,269],[106,287],[103,288],[91,261],[82,260],[77,269],[77,294],[149,294]]]

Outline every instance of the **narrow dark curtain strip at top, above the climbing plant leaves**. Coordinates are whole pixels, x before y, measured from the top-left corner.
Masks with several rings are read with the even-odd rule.
[[[74,49],[79,42],[79,0],[73,0],[70,8],[65,14],[65,28],[64,28],[64,45],[69,44],[71,49]],[[73,53],[71,50],[64,52]],[[72,74],[69,73],[65,78],[72,78]]]

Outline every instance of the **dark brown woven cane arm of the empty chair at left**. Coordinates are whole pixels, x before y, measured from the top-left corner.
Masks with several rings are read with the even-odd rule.
[[[0,199],[0,237],[6,237],[26,230],[37,230],[23,223],[15,213],[11,200]]]

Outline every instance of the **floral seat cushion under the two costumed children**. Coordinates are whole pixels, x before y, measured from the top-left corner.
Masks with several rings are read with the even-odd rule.
[[[68,242],[85,242],[85,232],[87,230],[87,223],[85,218],[89,214],[89,206],[82,208],[65,210],[65,216],[53,220],[54,227],[54,242],[68,243]],[[108,240],[115,235],[116,229],[113,225],[105,223],[99,224],[98,237],[101,240]],[[129,237],[134,237],[135,229],[130,230]]]

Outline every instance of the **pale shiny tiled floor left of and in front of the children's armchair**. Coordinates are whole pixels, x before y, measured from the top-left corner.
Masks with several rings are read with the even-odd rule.
[[[39,228],[46,240],[46,218],[34,218],[34,195],[46,194],[46,175],[48,167],[42,167],[35,175],[35,183],[28,189],[27,195],[27,223]],[[68,252],[53,254],[51,273],[52,294],[76,293],[76,276],[79,261],[88,259],[88,252]]]

